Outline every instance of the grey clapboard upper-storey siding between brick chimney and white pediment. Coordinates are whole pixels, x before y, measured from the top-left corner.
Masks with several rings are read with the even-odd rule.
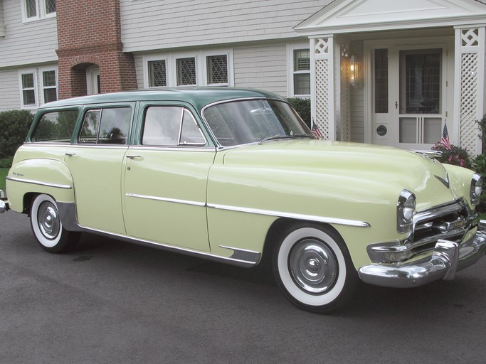
[[[292,27],[332,2],[120,0],[126,52],[295,38]]]

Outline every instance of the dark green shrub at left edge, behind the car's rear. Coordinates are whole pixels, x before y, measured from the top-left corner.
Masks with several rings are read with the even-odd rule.
[[[14,156],[26,139],[33,114],[28,110],[0,112],[0,159]]]

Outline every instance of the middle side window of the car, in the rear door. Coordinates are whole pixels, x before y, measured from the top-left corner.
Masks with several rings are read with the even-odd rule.
[[[107,107],[85,114],[79,142],[88,144],[127,144],[132,110],[130,107]]]

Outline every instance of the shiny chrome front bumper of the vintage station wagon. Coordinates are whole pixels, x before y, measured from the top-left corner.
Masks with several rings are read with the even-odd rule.
[[[426,259],[409,264],[369,264],[361,267],[358,274],[363,282],[376,286],[418,287],[438,279],[454,279],[455,272],[475,264],[485,252],[486,233],[478,230],[460,244],[438,240],[432,256]]]

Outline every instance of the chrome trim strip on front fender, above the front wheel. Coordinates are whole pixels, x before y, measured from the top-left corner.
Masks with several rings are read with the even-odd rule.
[[[371,225],[369,225],[369,223],[366,223],[365,221],[347,220],[347,219],[339,219],[339,218],[326,218],[323,216],[303,215],[298,213],[282,213],[279,211],[260,210],[258,208],[238,208],[234,206],[218,205],[214,203],[208,203],[207,206],[208,208],[215,208],[217,210],[236,211],[238,213],[254,213],[257,215],[277,216],[279,218],[292,218],[297,220],[317,221],[318,223],[356,226],[358,228],[371,227]]]

